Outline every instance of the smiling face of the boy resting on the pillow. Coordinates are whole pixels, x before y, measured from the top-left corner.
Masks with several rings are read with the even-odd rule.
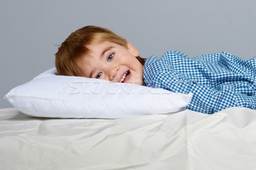
[[[143,84],[143,65],[136,58],[139,55],[137,49],[130,43],[128,49],[109,41],[87,47],[91,53],[84,57],[82,76],[110,82]]]

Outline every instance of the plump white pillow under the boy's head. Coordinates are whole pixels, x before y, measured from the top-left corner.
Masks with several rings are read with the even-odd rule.
[[[101,79],[58,76],[52,68],[13,88],[4,98],[30,116],[116,119],[182,111],[192,94]]]

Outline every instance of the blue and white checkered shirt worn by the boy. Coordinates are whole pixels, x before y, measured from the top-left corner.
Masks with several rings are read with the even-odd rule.
[[[194,58],[168,51],[149,57],[144,85],[193,93],[188,109],[212,114],[230,107],[256,109],[256,58],[244,60],[226,52]]]

